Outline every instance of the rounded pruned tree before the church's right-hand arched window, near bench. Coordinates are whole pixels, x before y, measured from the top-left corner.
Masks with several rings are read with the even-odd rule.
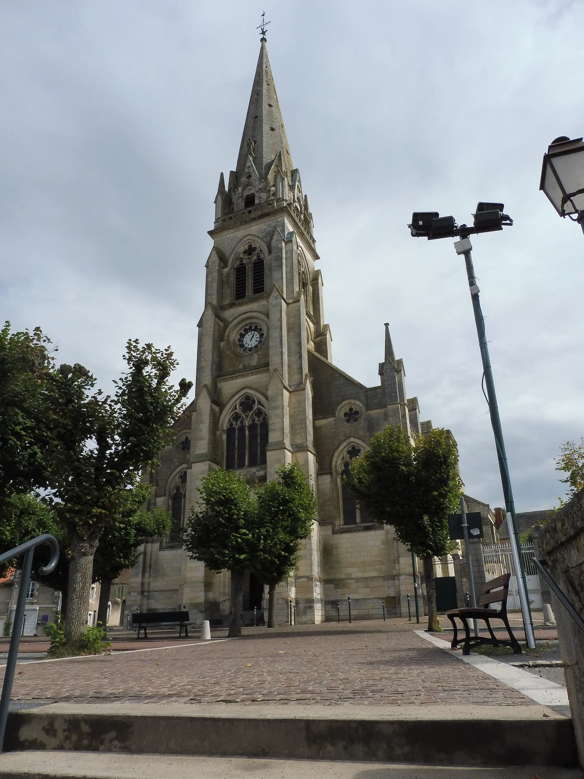
[[[448,515],[456,511],[462,484],[452,434],[434,428],[412,445],[402,428],[388,426],[350,464],[349,488],[379,522],[424,562],[428,630],[439,628],[433,557],[452,551]]]

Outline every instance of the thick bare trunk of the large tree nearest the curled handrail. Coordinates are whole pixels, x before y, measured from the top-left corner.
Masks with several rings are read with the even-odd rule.
[[[87,541],[75,534],[71,541],[72,559],[69,562],[65,641],[73,647],[87,629],[87,607],[90,602],[93,554],[97,542]]]

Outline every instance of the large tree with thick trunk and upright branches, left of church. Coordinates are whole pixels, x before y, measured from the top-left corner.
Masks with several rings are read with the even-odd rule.
[[[169,382],[176,361],[170,347],[128,341],[128,371],[113,397],[94,392],[83,365],[52,372],[55,459],[65,474],[55,485],[55,509],[69,536],[68,607],[65,639],[72,647],[86,629],[93,555],[101,535],[118,516],[125,491],[139,485],[140,471],[163,449],[168,427],[192,384]]]

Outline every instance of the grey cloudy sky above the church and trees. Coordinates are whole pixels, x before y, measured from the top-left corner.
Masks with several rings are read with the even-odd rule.
[[[100,386],[128,338],[195,378],[220,171],[234,167],[262,10],[315,220],[336,365],[378,384],[383,323],[423,419],[459,442],[467,491],[502,502],[462,258],[413,210],[515,224],[473,259],[518,510],[565,488],[584,435],[584,236],[538,191],[584,132],[584,2],[0,0],[0,308]]]

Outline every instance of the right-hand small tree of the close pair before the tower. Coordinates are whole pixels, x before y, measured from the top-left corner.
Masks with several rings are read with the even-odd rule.
[[[268,627],[276,614],[276,586],[297,566],[301,541],[311,534],[317,513],[315,492],[296,464],[278,468],[278,478],[255,492],[255,569],[268,585]]]

